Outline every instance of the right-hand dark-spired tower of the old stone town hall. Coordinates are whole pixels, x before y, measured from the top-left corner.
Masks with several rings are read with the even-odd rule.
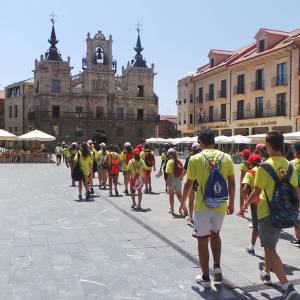
[[[154,81],[154,64],[149,68],[146,60],[143,58],[140,29],[137,29],[138,37],[134,51],[135,57],[127,64],[127,68],[123,69],[123,80],[127,85],[127,96],[129,98],[142,97],[153,98],[153,81]]]

